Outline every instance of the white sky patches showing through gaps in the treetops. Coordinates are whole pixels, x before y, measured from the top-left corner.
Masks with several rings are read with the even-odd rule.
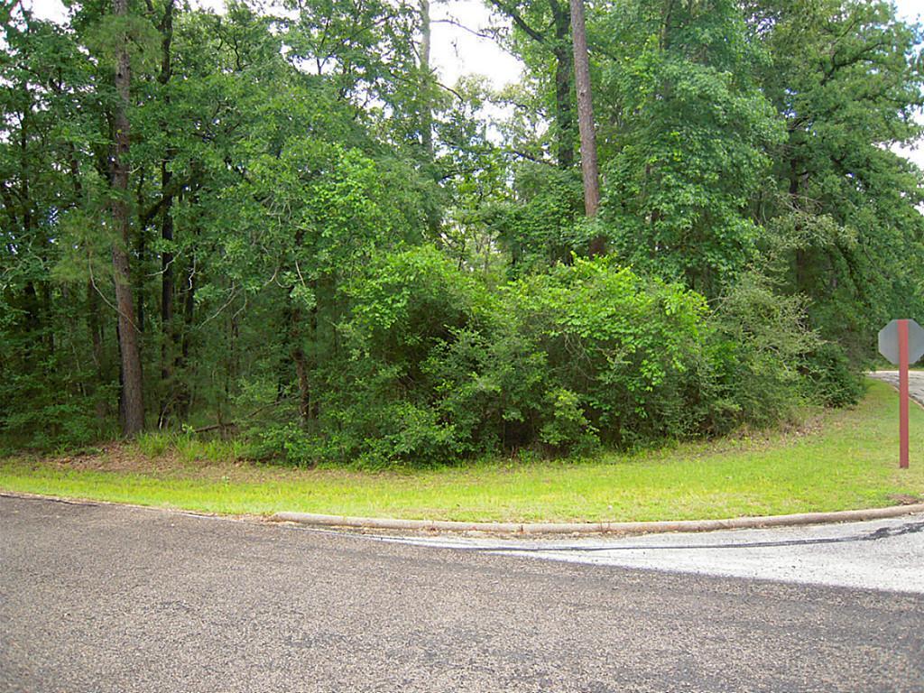
[[[222,0],[193,0],[200,6],[220,8]],[[60,0],[25,0],[36,15],[61,19],[65,9]],[[896,0],[898,14],[906,19],[920,19],[924,6],[920,0]],[[519,79],[520,63],[490,39],[476,35],[492,23],[491,13],[483,0],[443,0],[432,3],[432,65],[444,84],[455,84],[462,75],[478,74],[503,87]],[[924,167],[924,147],[896,148]]]

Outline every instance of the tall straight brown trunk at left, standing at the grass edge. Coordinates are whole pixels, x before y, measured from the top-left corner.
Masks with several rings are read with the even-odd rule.
[[[113,0],[116,17],[128,15],[128,0]],[[128,98],[131,66],[128,58],[128,38],[123,38],[116,55],[116,150],[113,157],[112,185],[113,223],[118,237],[113,242],[113,269],[116,275],[116,308],[118,310],[119,355],[122,363],[122,432],[134,435],[144,428],[144,397],[141,380],[139,330],[132,317],[135,314],[131,271],[128,262]]]

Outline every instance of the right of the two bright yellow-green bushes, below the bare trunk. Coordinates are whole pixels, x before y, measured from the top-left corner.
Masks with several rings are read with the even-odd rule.
[[[675,399],[706,329],[698,294],[612,261],[576,260],[509,286],[505,298],[548,363],[550,389],[577,395],[603,443],[646,444],[695,428]],[[548,416],[542,402],[541,418]]]

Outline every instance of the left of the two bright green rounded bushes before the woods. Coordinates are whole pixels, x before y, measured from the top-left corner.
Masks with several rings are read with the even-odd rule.
[[[428,368],[456,331],[489,331],[496,309],[487,288],[424,247],[383,256],[342,293],[350,310],[338,335],[347,358],[317,373],[324,455],[382,467],[473,452],[469,426],[441,415]]]

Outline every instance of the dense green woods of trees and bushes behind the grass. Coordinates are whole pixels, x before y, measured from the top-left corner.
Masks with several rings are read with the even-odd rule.
[[[892,149],[921,28],[878,0],[487,6],[525,66],[503,90],[443,83],[430,0],[3,0],[8,444],[434,464],[856,402],[876,331],[924,315],[924,176]]]

